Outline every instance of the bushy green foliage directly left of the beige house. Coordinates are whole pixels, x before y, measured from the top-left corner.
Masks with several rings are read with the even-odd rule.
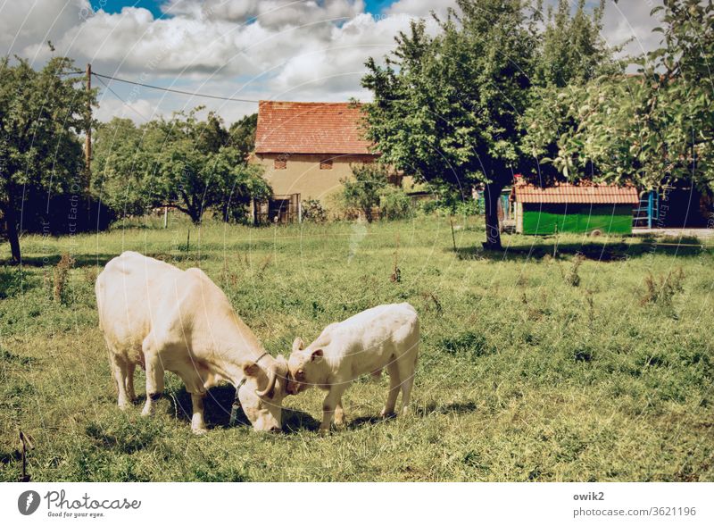
[[[268,198],[270,187],[261,168],[248,165],[245,153],[230,146],[218,115],[197,119],[201,109],[139,128],[120,119],[100,126],[97,196],[125,215],[168,205],[196,224],[209,209],[224,221],[243,221],[250,200]]]

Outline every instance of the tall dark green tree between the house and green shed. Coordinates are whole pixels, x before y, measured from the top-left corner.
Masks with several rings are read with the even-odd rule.
[[[437,191],[469,199],[483,185],[486,243],[501,248],[498,199],[519,165],[519,115],[529,104],[535,23],[522,0],[457,0],[461,11],[424,21],[396,38],[384,66],[373,58],[362,85],[366,135],[381,162],[413,173]],[[435,17],[436,18],[436,17]]]

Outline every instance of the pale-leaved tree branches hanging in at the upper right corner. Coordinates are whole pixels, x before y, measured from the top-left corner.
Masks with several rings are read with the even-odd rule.
[[[660,188],[689,180],[714,188],[712,0],[664,0],[659,49],[639,57],[639,74],[607,74],[559,93],[565,119],[577,122],[556,140],[553,163],[566,177]],[[552,137],[538,123],[534,145]]]

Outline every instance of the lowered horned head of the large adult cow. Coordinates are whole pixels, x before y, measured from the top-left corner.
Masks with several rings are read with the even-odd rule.
[[[287,362],[284,356],[261,362],[262,366],[254,362],[244,364],[245,385],[238,388],[237,397],[254,430],[278,431],[282,427]]]

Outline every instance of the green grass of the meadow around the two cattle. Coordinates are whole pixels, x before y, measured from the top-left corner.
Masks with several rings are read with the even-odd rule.
[[[188,225],[160,222],[26,237],[25,266],[0,266],[0,480],[20,474],[19,430],[34,438],[33,480],[714,480],[708,248],[507,236],[506,255],[489,255],[469,220],[454,253],[449,222],[419,217],[209,223],[191,228],[187,249]],[[369,306],[409,301],[422,327],[414,414],[378,420],[386,377],[363,379],[345,395],[346,429],[318,435],[323,393],[311,390],[286,398],[289,432],[264,435],[228,427],[233,389],[220,387],[206,402],[212,429],[195,437],[171,373],[154,418],[140,405],[121,413],[93,285],[129,249],[200,265],[273,355]],[[55,301],[65,252],[76,263]],[[656,286],[679,268],[681,284],[648,295],[648,277]]]

